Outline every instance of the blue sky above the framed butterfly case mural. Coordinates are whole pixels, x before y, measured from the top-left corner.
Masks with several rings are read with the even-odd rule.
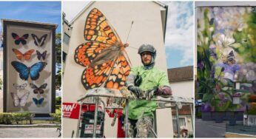
[[[0,1],[0,18],[58,24],[61,33],[61,1]]]

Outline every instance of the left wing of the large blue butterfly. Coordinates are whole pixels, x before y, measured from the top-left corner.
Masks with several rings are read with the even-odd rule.
[[[18,61],[12,61],[11,64],[13,65],[14,69],[16,69],[16,71],[19,73],[19,77],[22,80],[27,81],[30,69],[25,64],[22,64]]]

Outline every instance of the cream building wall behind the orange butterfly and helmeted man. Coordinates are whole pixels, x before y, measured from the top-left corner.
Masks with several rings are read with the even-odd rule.
[[[74,52],[79,44],[85,42],[84,23],[87,14],[93,7],[97,7],[104,13],[112,24],[112,27],[115,27],[115,31],[118,33],[123,43],[126,42],[129,28],[131,27],[132,21],[134,21],[129,40],[127,41],[130,47],[126,49],[129,58],[132,61],[132,66],[141,65],[141,58],[138,55],[138,47],[141,44],[150,43],[153,44],[158,51],[155,66],[166,72],[166,57],[160,6],[152,1],[96,1],[71,24],[73,30],[71,33],[63,80],[63,102],[76,102],[79,96],[83,95],[86,91],[81,84],[81,74],[85,68],[75,63]],[[159,115],[158,118],[172,119],[172,115],[169,115],[168,117],[166,117],[166,115]],[[70,132],[76,129],[77,125],[72,121],[73,120],[67,118],[63,119],[63,135],[65,138],[70,137]],[[109,122],[106,121],[106,123]],[[172,121],[167,124],[172,125]],[[162,128],[165,127],[162,126]],[[105,129],[107,138],[112,137],[107,136],[107,132],[116,132],[116,129]],[[161,130],[161,128],[158,129]],[[166,135],[162,136],[168,135],[168,137],[172,137],[172,132],[166,132],[165,134]],[[116,135],[116,133],[114,135]],[[112,138],[115,138],[115,136]]]

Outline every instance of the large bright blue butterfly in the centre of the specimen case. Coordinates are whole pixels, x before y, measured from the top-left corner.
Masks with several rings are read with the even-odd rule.
[[[29,75],[31,80],[37,80],[39,78],[39,72],[41,72],[44,67],[47,65],[46,62],[38,62],[36,64],[33,64],[31,67],[27,67],[25,64],[22,64],[18,61],[12,61],[11,63],[16,69],[16,71],[19,73],[19,77],[22,80],[27,81]]]

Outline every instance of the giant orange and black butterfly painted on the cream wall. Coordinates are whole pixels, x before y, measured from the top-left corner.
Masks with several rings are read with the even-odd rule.
[[[100,10],[93,8],[84,27],[87,41],[75,50],[75,62],[84,69],[81,82],[85,89],[121,89],[130,72],[130,62],[121,39]]]

